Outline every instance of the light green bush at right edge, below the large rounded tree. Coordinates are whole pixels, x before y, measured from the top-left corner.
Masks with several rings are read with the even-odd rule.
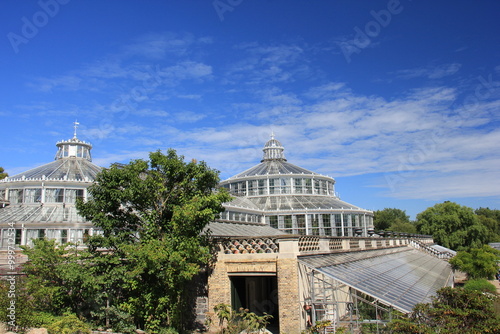
[[[493,279],[498,271],[499,260],[500,251],[484,245],[468,252],[459,251],[449,262],[454,269],[465,272],[469,279]]]

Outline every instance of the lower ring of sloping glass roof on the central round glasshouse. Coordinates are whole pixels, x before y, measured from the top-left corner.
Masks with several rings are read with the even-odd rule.
[[[333,196],[315,196],[315,195],[276,195],[265,197],[248,198],[258,208],[264,211],[275,210],[362,210],[364,209]]]

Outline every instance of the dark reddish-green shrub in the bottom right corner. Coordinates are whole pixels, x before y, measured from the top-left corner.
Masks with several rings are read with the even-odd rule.
[[[391,333],[500,333],[495,297],[463,288],[442,288],[430,304],[418,304],[405,319],[388,324]]]

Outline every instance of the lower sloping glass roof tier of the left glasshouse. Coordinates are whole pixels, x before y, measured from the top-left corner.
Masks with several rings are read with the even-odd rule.
[[[13,223],[85,223],[74,206],[14,205],[0,210],[1,222]]]

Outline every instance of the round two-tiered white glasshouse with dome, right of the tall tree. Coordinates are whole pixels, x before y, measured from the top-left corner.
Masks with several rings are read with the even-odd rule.
[[[260,164],[221,182],[235,196],[221,221],[265,223],[297,235],[373,234],[373,212],[340,200],[333,178],[289,163],[274,135],[263,151]]]

